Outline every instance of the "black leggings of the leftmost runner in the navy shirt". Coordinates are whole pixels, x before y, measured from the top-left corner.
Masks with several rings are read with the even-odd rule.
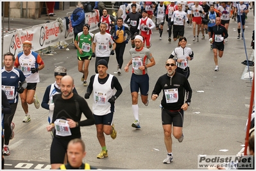
[[[17,103],[11,103],[10,106],[12,108],[11,114],[4,115],[4,145],[8,145],[10,142],[12,135],[11,123],[17,108]]]

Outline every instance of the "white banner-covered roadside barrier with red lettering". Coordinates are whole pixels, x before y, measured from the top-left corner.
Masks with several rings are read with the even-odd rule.
[[[90,31],[98,29],[99,11],[85,13],[85,23],[90,24]],[[62,19],[62,24],[55,20],[24,29],[16,29],[4,35],[3,54],[10,52],[15,56],[23,51],[22,43],[30,40],[32,51],[39,51],[51,45],[60,44],[62,41],[74,38],[74,32],[71,25],[66,24],[66,19]]]

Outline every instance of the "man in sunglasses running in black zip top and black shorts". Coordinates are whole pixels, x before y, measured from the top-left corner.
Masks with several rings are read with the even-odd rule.
[[[164,143],[167,150],[167,158],[163,161],[165,164],[173,161],[171,133],[173,132],[173,136],[178,139],[178,142],[183,141],[183,114],[189,107],[192,96],[189,81],[183,74],[175,72],[176,68],[175,60],[168,59],[166,61],[167,74],[158,78],[151,97],[155,101],[160,92],[163,91],[161,105]],[[187,99],[184,103],[185,92],[187,92]]]

